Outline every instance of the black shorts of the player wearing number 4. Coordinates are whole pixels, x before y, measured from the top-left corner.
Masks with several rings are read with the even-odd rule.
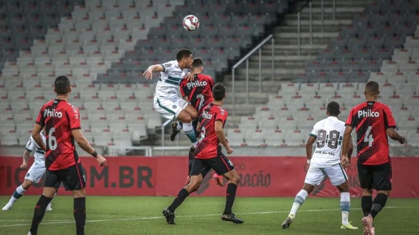
[[[391,162],[381,165],[357,163],[361,188],[391,190]]]

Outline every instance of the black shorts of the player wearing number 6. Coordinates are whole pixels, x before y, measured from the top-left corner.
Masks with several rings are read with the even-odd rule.
[[[86,187],[85,171],[81,167],[81,163],[60,170],[46,170],[45,187],[58,188],[64,184],[66,191],[78,190]]]

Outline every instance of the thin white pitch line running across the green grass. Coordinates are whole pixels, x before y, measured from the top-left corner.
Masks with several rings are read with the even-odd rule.
[[[387,206],[386,209],[419,209],[419,207],[403,207],[403,206]],[[321,212],[321,211],[336,211],[340,209],[311,209],[311,210],[299,210],[299,212]],[[361,210],[361,208],[351,208],[351,210]],[[262,211],[262,212],[243,212],[236,213],[236,215],[265,215],[273,213],[287,213],[288,210],[279,210],[279,211]],[[211,217],[211,216],[220,216],[220,214],[207,214],[207,215],[186,215],[186,216],[176,216],[179,217]],[[123,219],[102,219],[102,220],[87,220],[86,223],[94,222],[110,222],[110,221],[131,221],[131,220],[155,220],[163,219],[163,216],[156,217],[143,217],[143,218],[123,218]],[[0,222],[18,222],[18,221],[27,221],[27,220],[0,220]],[[45,220],[41,224],[71,224],[74,223],[74,220]],[[18,226],[29,226],[31,224],[10,224],[10,225],[0,225],[0,227],[18,227]]]

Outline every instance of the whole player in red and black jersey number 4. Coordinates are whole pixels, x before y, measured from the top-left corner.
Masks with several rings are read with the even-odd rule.
[[[343,137],[342,165],[348,167],[350,159],[350,135],[357,130],[358,177],[362,189],[361,207],[364,213],[362,223],[364,234],[374,235],[372,221],[386,205],[391,191],[391,161],[388,138],[404,144],[406,138],[395,131],[396,122],[389,106],[377,101],[379,84],[369,81],[365,85],[366,101],[354,106],[346,120]],[[377,195],[372,200],[372,189]]]

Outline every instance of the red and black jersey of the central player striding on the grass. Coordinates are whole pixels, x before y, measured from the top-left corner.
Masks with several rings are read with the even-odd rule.
[[[199,142],[195,149],[195,158],[208,159],[218,156],[220,140],[215,132],[215,122],[221,121],[223,126],[227,119],[227,110],[222,106],[210,103],[202,110],[200,117],[201,130]]]

